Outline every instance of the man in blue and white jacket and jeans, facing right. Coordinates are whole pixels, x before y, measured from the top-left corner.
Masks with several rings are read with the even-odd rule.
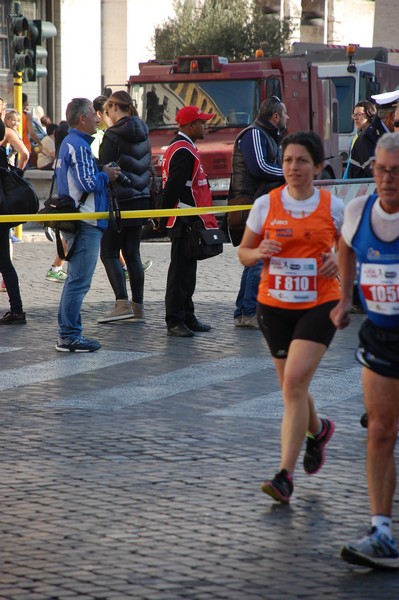
[[[91,100],[74,98],[66,109],[69,125],[58,153],[55,169],[57,190],[60,196],[71,196],[80,212],[108,211],[108,184],[120,175],[119,167],[105,165],[99,171],[91,143],[99,122]],[[96,268],[100,241],[108,221],[79,221],[78,232],[64,233],[68,247],[74,252],[69,259],[68,278],[62,290],[58,311],[59,352],[94,352],[101,348],[97,340],[82,335],[80,310],[90,289]]]

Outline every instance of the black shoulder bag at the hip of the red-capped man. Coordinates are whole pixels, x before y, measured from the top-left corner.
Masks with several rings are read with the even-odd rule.
[[[201,220],[186,225],[184,250],[186,257],[193,260],[205,260],[223,252],[223,243],[227,236],[221,229],[205,229]]]

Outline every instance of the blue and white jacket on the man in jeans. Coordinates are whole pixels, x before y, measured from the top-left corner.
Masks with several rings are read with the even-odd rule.
[[[78,129],[69,129],[61,143],[55,168],[57,190],[59,196],[71,196],[76,205],[82,194],[87,192],[89,195],[81,206],[81,212],[106,212],[109,178],[98,170],[90,147],[92,141],[91,135]],[[107,219],[86,222],[100,229],[108,226]]]

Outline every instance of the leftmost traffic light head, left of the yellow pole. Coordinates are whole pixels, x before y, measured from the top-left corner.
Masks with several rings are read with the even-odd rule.
[[[14,76],[20,72],[25,81],[33,81],[29,21],[22,15],[8,15],[7,26],[10,70]]]

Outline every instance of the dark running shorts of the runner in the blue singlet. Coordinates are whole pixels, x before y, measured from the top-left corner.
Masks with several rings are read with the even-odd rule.
[[[356,359],[371,371],[399,379],[399,330],[382,329],[366,319],[359,331]]]

